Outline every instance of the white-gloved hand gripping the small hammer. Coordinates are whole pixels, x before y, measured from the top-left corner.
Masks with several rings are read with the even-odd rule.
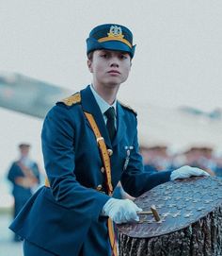
[[[130,199],[109,199],[103,206],[103,214],[120,224],[129,221],[139,221],[136,212],[142,209]]]

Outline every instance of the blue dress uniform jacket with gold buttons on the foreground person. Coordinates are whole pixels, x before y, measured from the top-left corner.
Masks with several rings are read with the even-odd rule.
[[[143,172],[133,111],[118,102],[117,135],[111,144],[89,86],[80,94],[80,103],[67,106],[60,102],[47,114],[42,151],[51,188],[40,188],[10,229],[56,255],[110,255],[107,218],[101,215],[110,197],[105,194],[103,163],[95,135],[83,111],[94,116],[107,148],[113,150],[113,187],[121,180],[127,193],[140,196],[169,180],[170,172]]]

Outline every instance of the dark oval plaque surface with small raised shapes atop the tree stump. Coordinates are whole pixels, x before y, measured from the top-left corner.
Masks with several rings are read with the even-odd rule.
[[[155,205],[160,221],[152,214],[141,214],[139,223],[118,225],[121,233],[149,238],[182,230],[208,213],[222,207],[222,179],[193,177],[161,184],[135,199],[143,211]]]

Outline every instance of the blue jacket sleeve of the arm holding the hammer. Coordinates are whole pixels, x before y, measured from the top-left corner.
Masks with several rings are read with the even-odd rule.
[[[75,123],[81,122],[77,111],[74,118],[75,122],[73,111],[63,106],[48,113],[41,133],[45,170],[57,203],[97,220],[110,197],[82,186],[75,178]]]

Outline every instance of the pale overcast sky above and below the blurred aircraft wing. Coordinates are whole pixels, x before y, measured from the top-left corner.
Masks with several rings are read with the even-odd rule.
[[[212,111],[222,108],[221,13],[221,0],[0,0],[0,71],[79,90],[91,81],[90,29],[118,23],[131,28],[136,44],[121,100]],[[21,140],[40,159],[41,121],[1,109],[0,117],[0,168]]]

